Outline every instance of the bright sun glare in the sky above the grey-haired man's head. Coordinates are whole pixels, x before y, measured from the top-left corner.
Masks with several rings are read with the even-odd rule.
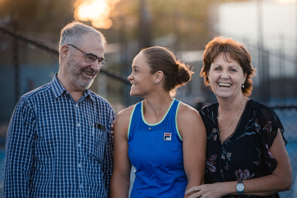
[[[97,28],[109,29],[110,19],[114,15],[114,7],[121,0],[76,0],[74,3],[74,18],[82,21],[92,21]]]

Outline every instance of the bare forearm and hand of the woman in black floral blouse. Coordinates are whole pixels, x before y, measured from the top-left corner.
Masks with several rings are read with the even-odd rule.
[[[277,136],[270,147],[271,154],[277,160],[277,166],[271,175],[255,179],[244,180],[244,194],[266,196],[280,191],[289,190],[292,184],[292,170],[282,135],[278,130]],[[206,197],[221,197],[227,194],[237,194],[235,185],[237,181],[205,184],[191,188],[188,193],[194,193],[192,197],[201,195]]]

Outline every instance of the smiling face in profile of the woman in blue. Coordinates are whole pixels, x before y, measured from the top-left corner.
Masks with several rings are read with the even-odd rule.
[[[151,68],[147,65],[143,53],[135,56],[132,63],[132,73],[128,76],[132,87],[130,91],[131,96],[145,97],[153,90],[154,74],[151,74]]]

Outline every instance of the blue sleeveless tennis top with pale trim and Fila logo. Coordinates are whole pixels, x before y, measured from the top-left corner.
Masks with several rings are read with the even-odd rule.
[[[145,122],[143,101],[134,106],[128,129],[128,154],[135,167],[131,198],[184,197],[188,179],[183,141],[176,124],[180,103],[173,99],[164,118],[156,124]]]

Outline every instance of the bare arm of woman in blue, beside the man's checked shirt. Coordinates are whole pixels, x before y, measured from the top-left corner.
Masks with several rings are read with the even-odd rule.
[[[132,108],[121,111],[114,124],[113,171],[110,183],[110,197],[129,195],[131,163],[128,156],[128,126]]]

